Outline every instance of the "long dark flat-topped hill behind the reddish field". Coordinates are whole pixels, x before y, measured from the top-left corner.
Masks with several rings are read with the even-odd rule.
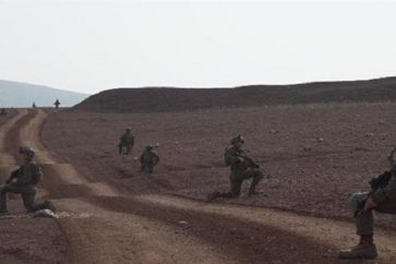
[[[73,109],[139,112],[395,99],[396,77],[386,77],[295,85],[250,85],[236,88],[117,88],[93,95]]]

